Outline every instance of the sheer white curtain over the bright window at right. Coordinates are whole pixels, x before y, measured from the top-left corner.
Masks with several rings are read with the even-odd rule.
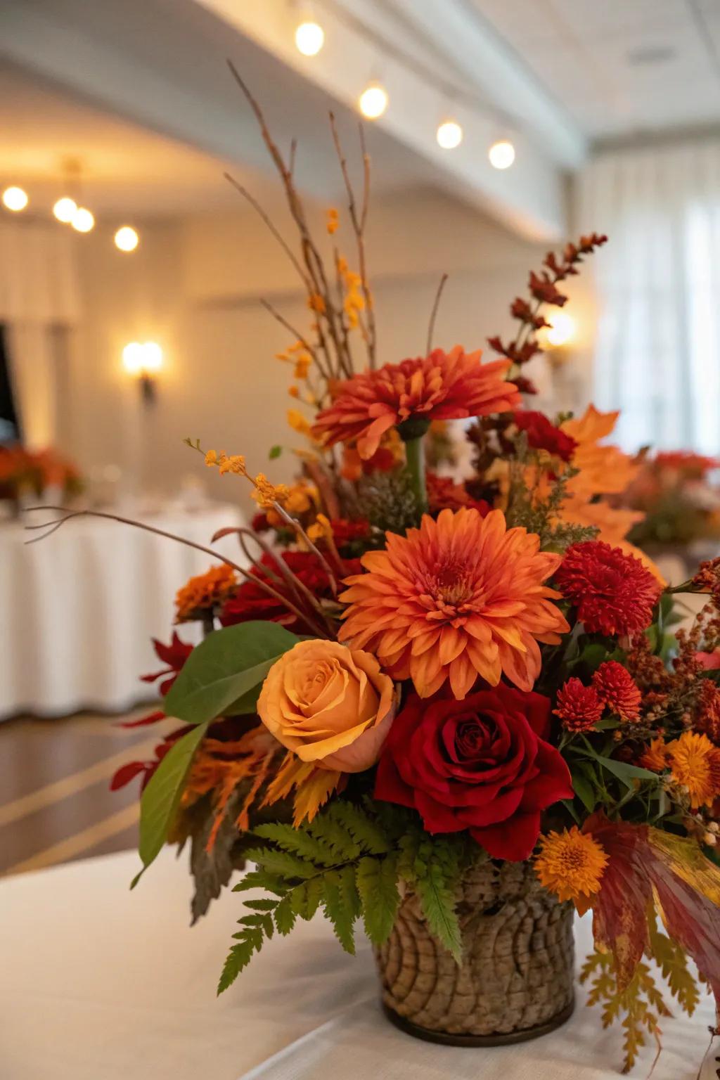
[[[595,256],[593,372],[626,449],[720,453],[720,138],[599,156],[580,178]]]

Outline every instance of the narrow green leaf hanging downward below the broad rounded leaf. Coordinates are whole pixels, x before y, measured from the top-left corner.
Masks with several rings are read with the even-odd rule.
[[[193,755],[206,730],[207,724],[200,724],[181,735],[165,754],[142,792],[139,851],[144,867],[150,865],[167,839]]]

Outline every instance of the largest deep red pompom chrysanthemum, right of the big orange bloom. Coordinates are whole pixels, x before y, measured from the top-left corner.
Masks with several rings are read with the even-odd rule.
[[[660,582],[639,558],[602,540],[568,548],[555,581],[587,631],[612,637],[633,636],[649,626],[661,593]]]

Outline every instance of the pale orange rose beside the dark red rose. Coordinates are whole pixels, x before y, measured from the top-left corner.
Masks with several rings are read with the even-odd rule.
[[[258,714],[302,761],[362,772],[378,760],[395,715],[393,680],[363,649],[299,642],[268,672]]]

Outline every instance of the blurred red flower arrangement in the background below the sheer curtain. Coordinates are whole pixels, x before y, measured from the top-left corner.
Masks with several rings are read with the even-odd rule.
[[[639,465],[619,504],[638,512],[629,537],[650,551],[720,540],[720,461],[676,450],[638,456]]]

